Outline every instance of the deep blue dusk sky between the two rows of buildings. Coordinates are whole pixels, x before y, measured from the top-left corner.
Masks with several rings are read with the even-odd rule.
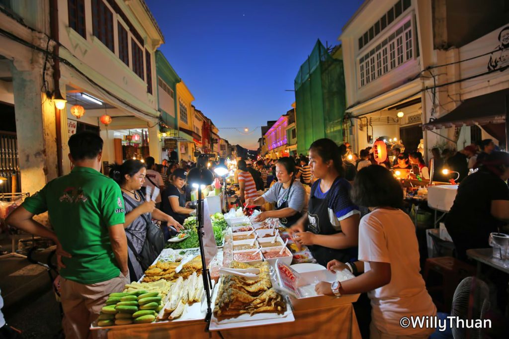
[[[258,148],[260,126],[295,101],[294,79],[317,39],[336,45],[361,0],[146,0],[159,49],[192,102],[231,144]],[[235,129],[221,129],[235,127]],[[243,134],[243,129],[250,132]]]

